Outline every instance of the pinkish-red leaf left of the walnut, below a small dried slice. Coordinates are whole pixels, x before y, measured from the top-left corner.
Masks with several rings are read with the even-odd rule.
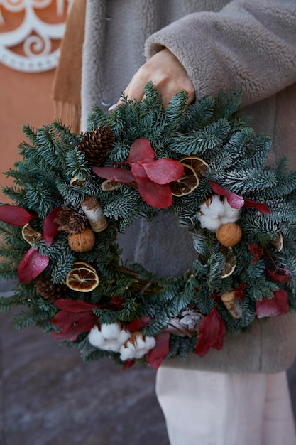
[[[48,267],[48,263],[49,257],[43,257],[38,250],[31,247],[18,264],[19,282],[31,282],[31,279],[38,277]]]

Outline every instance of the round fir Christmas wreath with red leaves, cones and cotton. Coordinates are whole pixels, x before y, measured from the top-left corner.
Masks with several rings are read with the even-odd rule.
[[[0,206],[0,276],[18,279],[0,306],[24,306],[17,328],[43,328],[84,360],[158,368],[295,309],[296,173],[286,159],[266,166],[270,136],[241,115],[238,92],[186,100],[163,109],[148,84],[143,102],[94,107],[82,134],[23,127],[3,190],[13,205]],[[121,261],[118,232],[160,212],[192,235],[182,276]]]

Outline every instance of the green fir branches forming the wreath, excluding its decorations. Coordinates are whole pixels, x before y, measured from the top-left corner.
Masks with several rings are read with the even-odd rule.
[[[14,185],[7,186],[3,192],[13,203],[35,216],[30,221],[33,230],[43,233],[44,220],[51,210],[69,205],[80,208],[89,196],[99,200],[108,226],[102,232],[94,232],[92,250],[75,252],[68,244],[67,232],[62,230],[55,233],[53,229],[53,242],[41,239],[29,245],[22,237],[22,225],[0,223],[2,278],[18,278],[21,259],[30,249],[49,258],[48,267],[35,279],[18,283],[13,296],[0,297],[0,310],[21,306],[21,312],[13,318],[17,328],[36,326],[47,333],[58,331],[51,322],[59,311],[50,301],[52,295],[47,296],[46,289],[43,296],[38,294],[38,291],[43,293],[39,285],[50,279],[53,289],[63,289],[65,301],[97,304],[99,307],[93,312],[97,323],[127,326],[130,321],[150,317],[149,323],[141,329],[146,336],[162,333],[172,318],[189,308],[202,316],[216,309],[226,331],[240,333],[256,318],[256,301],[263,296],[272,299],[278,289],[285,289],[290,309],[296,311],[296,173],[288,171],[284,158],[265,167],[270,136],[256,135],[249,124],[250,117],[241,114],[240,92],[221,92],[218,97],[203,97],[187,106],[187,93],[181,91],[164,109],[155,85],[150,82],[142,102],[128,100],[125,95],[121,99],[122,104],[114,112],[105,114],[94,107],[89,116],[89,131],[109,125],[114,132],[115,141],[106,154],[105,166],[126,163],[131,144],[143,138],[150,141],[155,159],[180,161],[185,156],[197,156],[208,164],[207,172],[197,171],[198,187],[187,195],[174,196],[170,208],[152,208],[139,195],[136,183],[119,184],[111,191],[102,190],[104,180],[94,175],[85,159],[83,144],[80,144],[85,134],[75,134],[59,121],[36,130],[24,126],[28,142],[19,146],[22,160],[6,173],[13,178]],[[82,180],[80,186],[71,183],[74,177]],[[271,210],[270,214],[265,214],[243,206],[235,222],[242,230],[241,241],[231,249],[218,242],[213,227],[210,230],[201,227],[200,206],[214,194],[211,180],[243,199],[264,203]],[[172,213],[176,224],[192,236],[196,255],[190,272],[179,277],[158,277],[143,264],[126,264],[121,259],[118,233],[124,232],[138,218],[149,221],[160,213]],[[91,227],[89,220],[85,220],[85,224]],[[280,251],[275,245],[279,234],[283,237]],[[251,247],[255,251],[258,248],[258,257]],[[236,267],[224,277],[229,256],[236,260]],[[287,284],[274,282],[266,269],[266,261],[275,264],[275,268],[286,268],[290,281]],[[94,285],[97,284],[94,289],[84,292],[78,285],[71,287],[67,274],[75,262],[76,266],[80,263],[85,276],[89,273]],[[78,284],[85,284],[79,274],[76,277],[81,280]],[[241,284],[246,284],[246,291],[239,301],[241,318],[236,319],[219,297]],[[77,348],[83,360],[109,357],[122,365],[119,353],[90,345],[87,332],[63,344]],[[168,357],[179,355],[183,360],[190,351],[194,352],[196,345],[195,334],[192,338],[170,335]],[[136,361],[146,365],[145,357]]]

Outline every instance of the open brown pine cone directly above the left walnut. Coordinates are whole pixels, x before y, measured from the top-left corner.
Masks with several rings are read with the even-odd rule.
[[[62,208],[54,222],[59,226],[58,230],[67,233],[80,233],[87,227],[87,217],[82,208],[72,205]]]

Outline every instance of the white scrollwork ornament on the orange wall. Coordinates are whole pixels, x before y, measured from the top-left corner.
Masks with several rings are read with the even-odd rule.
[[[57,17],[61,17],[73,0],[54,1]],[[52,41],[62,38],[65,23],[47,23],[35,12],[50,4],[53,0],[0,0],[0,63],[26,73],[41,73],[56,67],[60,50],[53,49]],[[22,23],[13,31],[1,32],[1,26],[5,25],[1,11],[22,12]],[[22,54],[13,51],[16,45],[21,45]]]

